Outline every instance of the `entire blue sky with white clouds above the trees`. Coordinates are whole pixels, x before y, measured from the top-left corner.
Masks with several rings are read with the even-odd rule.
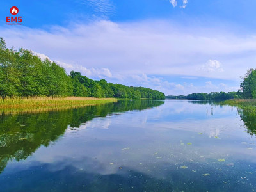
[[[256,61],[256,1],[4,1],[0,36],[67,72],[166,95],[238,90]],[[22,26],[6,25],[17,6]]]

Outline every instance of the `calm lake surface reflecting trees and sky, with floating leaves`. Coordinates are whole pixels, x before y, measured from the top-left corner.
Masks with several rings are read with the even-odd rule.
[[[117,103],[0,117],[0,191],[255,191],[256,114]]]

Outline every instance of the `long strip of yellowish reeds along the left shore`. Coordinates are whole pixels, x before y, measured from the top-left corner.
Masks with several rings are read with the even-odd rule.
[[[1,111],[49,111],[49,109],[77,108],[81,106],[116,102],[115,98],[93,97],[27,97],[6,98],[0,101]]]

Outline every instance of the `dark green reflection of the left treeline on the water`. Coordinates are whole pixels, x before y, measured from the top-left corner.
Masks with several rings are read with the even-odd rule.
[[[95,117],[148,109],[163,103],[163,100],[121,100],[118,103],[45,113],[5,115],[3,112],[0,116],[0,173],[10,159],[26,159],[41,145],[47,147],[56,141],[67,127],[74,129]]]

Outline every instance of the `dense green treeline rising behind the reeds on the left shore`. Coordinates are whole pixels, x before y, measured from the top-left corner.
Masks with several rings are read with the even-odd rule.
[[[117,97],[117,98],[164,98],[164,93],[149,88],[124,86],[94,81],[80,72],[70,72],[56,63],[44,60],[27,49],[6,48],[0,38],[0,97]]]

